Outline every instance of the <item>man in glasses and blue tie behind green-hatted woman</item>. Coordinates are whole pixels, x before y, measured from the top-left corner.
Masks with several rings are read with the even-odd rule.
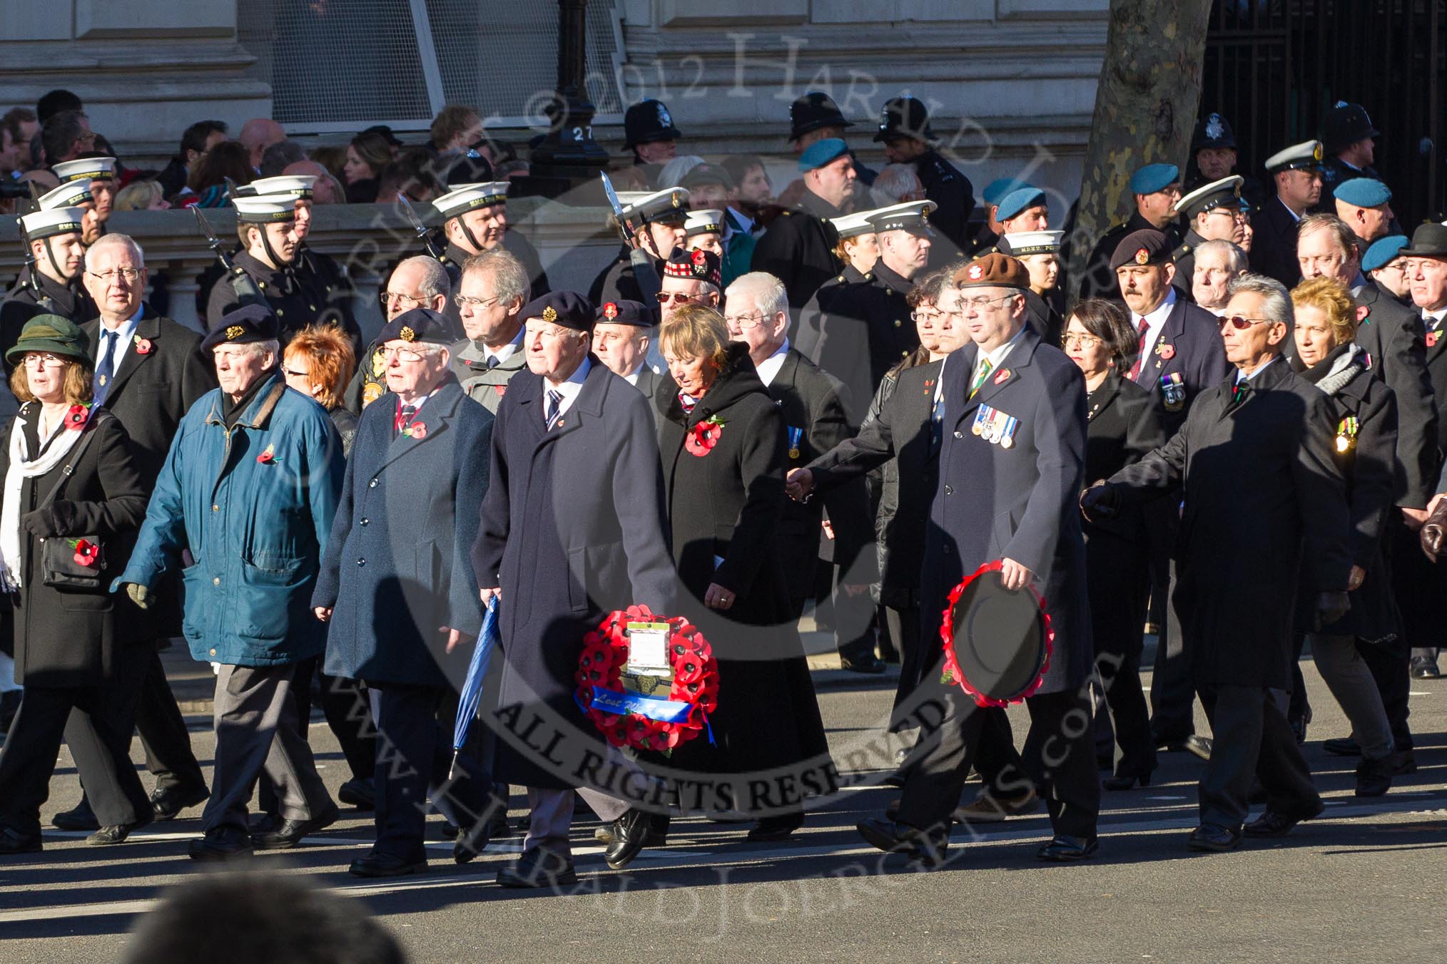
[[[96,358],[96,403],[104,405],[130,436],[136,471],[145,490],[152,490],[177,428],[187,410],[216,387],[216,373],[201,357],[201,337],[146,308],[146,262],[140,246],[124,234],[106,234],[85,251],[85,289],[100,318],[81,325]],[[132,608],[129,620],[146,624],[155,639],[145,649],[150,659],[136,701],[136,728],[146,752],[146,769],[156,776],[150,805],[156,819],[172,819],[187,806],[208,796],[201,765],[191,750],[191,736],[166,684],[158,646],[181,634],[179,582],[169,582],[159,601],[148,610]],[[127,601],[117,606],[129,607]],[[67,743],[81,757],[98,746],[85,714],[72,713]],[[90,770],[90,767],[81,767]],[[61,830],[96,830],[90,796],[106,788],[84,788],[85,796],[72,809],[55,815]]]

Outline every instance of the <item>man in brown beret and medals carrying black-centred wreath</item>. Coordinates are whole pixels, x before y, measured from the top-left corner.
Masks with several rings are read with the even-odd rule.
[[[1037,856],[1081,860],[1095,853],[1100,809],[1094,739],[1088,723],[1072,723],[1088,718],[1082,687],[1092,665],[1085,542],[1075,504],[1085,464],[1085,382],[1026,324],[1030,275],[1019,260],[987,254],[961,269],[954,283],[971,344],[951,357],[936,389],[945,415],[920,585],[920,611],[935,616],[922,626],[923,636],[939,634],[939,614],[954,604],[951,590],[985,562],[1001,564],[1006,591],[1033,585],[1045,597],[1055,652],[1026,698],[1026,747],[1035,757],[1026,769],[1045,785],[1055,837]],[[962,687],[941,678],[936,662],[917,691],[942,702],[946,715],[938,731],[920,737],[897,818],[858,825],[873,845],[925,866],[943,860],[951,814],[987,717]]]

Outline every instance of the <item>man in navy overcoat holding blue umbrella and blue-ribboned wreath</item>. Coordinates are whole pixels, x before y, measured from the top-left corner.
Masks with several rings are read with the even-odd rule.
[[[498,734],[498,779],[527,786],[532,809],[522,856],[498,883],[567,886],[577,880],[574,788],[614,821],[603,854],[614,869],[638,854],[653,824],[644,801],[631,808],[616,786],[595,783],[606,744],[573,700],[583,636],[634,604],[671,616],[676,577],[648,400],[592,354],[593,305],[553,292],[522,318],[528,370],[498,406],[472,546],[506,653],[498,705],[483,717]]]

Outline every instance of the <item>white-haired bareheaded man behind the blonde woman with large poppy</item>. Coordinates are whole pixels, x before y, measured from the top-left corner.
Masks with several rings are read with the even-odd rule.
[[[726,305],[724,322],[729,338],[748,345],[760,380],[784,416],[789,468],[807,465],[849,438],[854,432],[845,413],[844,384],[789,344],[789,295],[783,282],[765,272],[750,272],[728,286]],[[874,581],[874,565],[867,554],[861,555],[873,542],[874,522],[862,480],[836,489],[826,500],[786,506],[777,532],[780,552],[786,556],[789,600],[797,616],[815,590],[825,510],[833,529],[833,562],[826,565],[831,571],[835,565],[839,568],[841,591],[835,606],[839,658],[845,669],[884,672],[870,627],[873,604],[867,590]]]

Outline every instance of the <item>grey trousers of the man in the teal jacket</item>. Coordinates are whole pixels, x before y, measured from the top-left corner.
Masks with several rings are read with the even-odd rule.
[[[216,676],[216,772],[201,814],[205,832],[246,830],[246,804],[262,773],[287,819],[313,819],[334,804],[317,776],[311,747],[297,728],[294,663],[221,666]]]

